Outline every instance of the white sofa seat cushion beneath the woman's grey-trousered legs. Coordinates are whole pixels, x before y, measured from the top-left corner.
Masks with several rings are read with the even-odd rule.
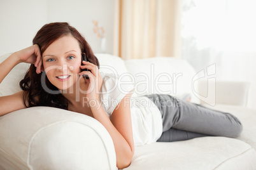
[[[253,169],[256,152],[243,141],[203,137],[187,141],[156,142],[135,148],[125,170],[150,169]]]

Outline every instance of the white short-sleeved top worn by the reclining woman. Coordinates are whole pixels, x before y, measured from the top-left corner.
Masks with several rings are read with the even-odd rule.
[[[100,100],[108,117],[127,93],[134,89],[131,81],[124,83],[115,74],[103,77]],[[131,119],[134,145],[145,145],[157,141],[162,134],[162,116],[159,108],[146,96],[131,97]]]

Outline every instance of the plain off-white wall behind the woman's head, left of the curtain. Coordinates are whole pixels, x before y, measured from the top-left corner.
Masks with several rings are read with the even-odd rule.
[[[32,45],[45,23],[68,22],[101,53],[100,39],[93,32],[97,20],[106,33],[106,53],[113,53],[114,0],[0,0],[0,55]]]

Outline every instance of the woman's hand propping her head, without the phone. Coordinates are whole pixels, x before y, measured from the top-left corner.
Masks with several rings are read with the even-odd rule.
[[[19,63],[31,63],[36,67],[36,73],[43,72],[41,51],[38,44],[34,44],[28,48],[16,52]]]

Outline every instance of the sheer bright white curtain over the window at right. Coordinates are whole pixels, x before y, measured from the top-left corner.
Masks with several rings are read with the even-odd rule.
[[[182,56],[197,71],[216,63],[216,79],[250,82],[256,108],[256,1],[183,0]]]

